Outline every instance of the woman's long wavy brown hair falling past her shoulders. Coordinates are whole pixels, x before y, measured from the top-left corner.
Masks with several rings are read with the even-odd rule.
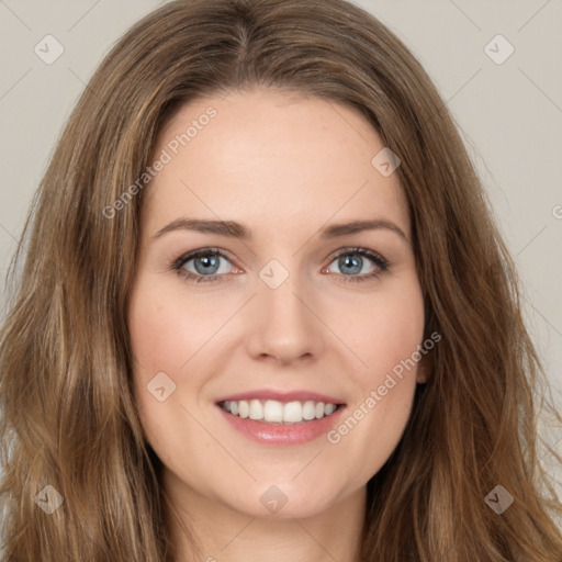
[[[426,334],[441,335],[403,439],[369,481],[362,560],[560,562],[562,506],[537,431],[547,381],[514,262],[427,74],[344,0],[172,1],[89,81],[11,267],[15,283],[25,256],[0,333],[5,560],[169,555],[159,461],[131,382],[125,312],[143,200],[131,186],[180,104],[256,86],[357,108],[400,156]],[[47,485],[64,498],[50,515],[36,499]],[[514,499],[501,515],[486,502],[498,491]]]

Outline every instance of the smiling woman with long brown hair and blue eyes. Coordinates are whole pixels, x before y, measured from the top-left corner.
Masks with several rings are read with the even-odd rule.
[[[5,560],[561,560],[514,263],[435,87],[368,13],[147,15],[25,233]]]

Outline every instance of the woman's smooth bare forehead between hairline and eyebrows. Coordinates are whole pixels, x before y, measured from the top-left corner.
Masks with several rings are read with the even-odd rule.
[[[143,222],[154,232],[196,212],[283,228],[382,215],[409,237],[397,175],[372,164],[384,148],[359,110],[321,98],[263,89],[199,98],[159,132],[153,161],[167,164],[143,194]]]

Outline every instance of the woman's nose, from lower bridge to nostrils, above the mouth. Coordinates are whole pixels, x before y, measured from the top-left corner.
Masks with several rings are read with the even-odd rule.
[[[296,276],[276,289],[258,284],[249,306],[248,353],[282,364],[318,358],[325,346],[326,327],[316,311],[317,299],[296,283]],[[316,306],[315,306],[316,304]]]

